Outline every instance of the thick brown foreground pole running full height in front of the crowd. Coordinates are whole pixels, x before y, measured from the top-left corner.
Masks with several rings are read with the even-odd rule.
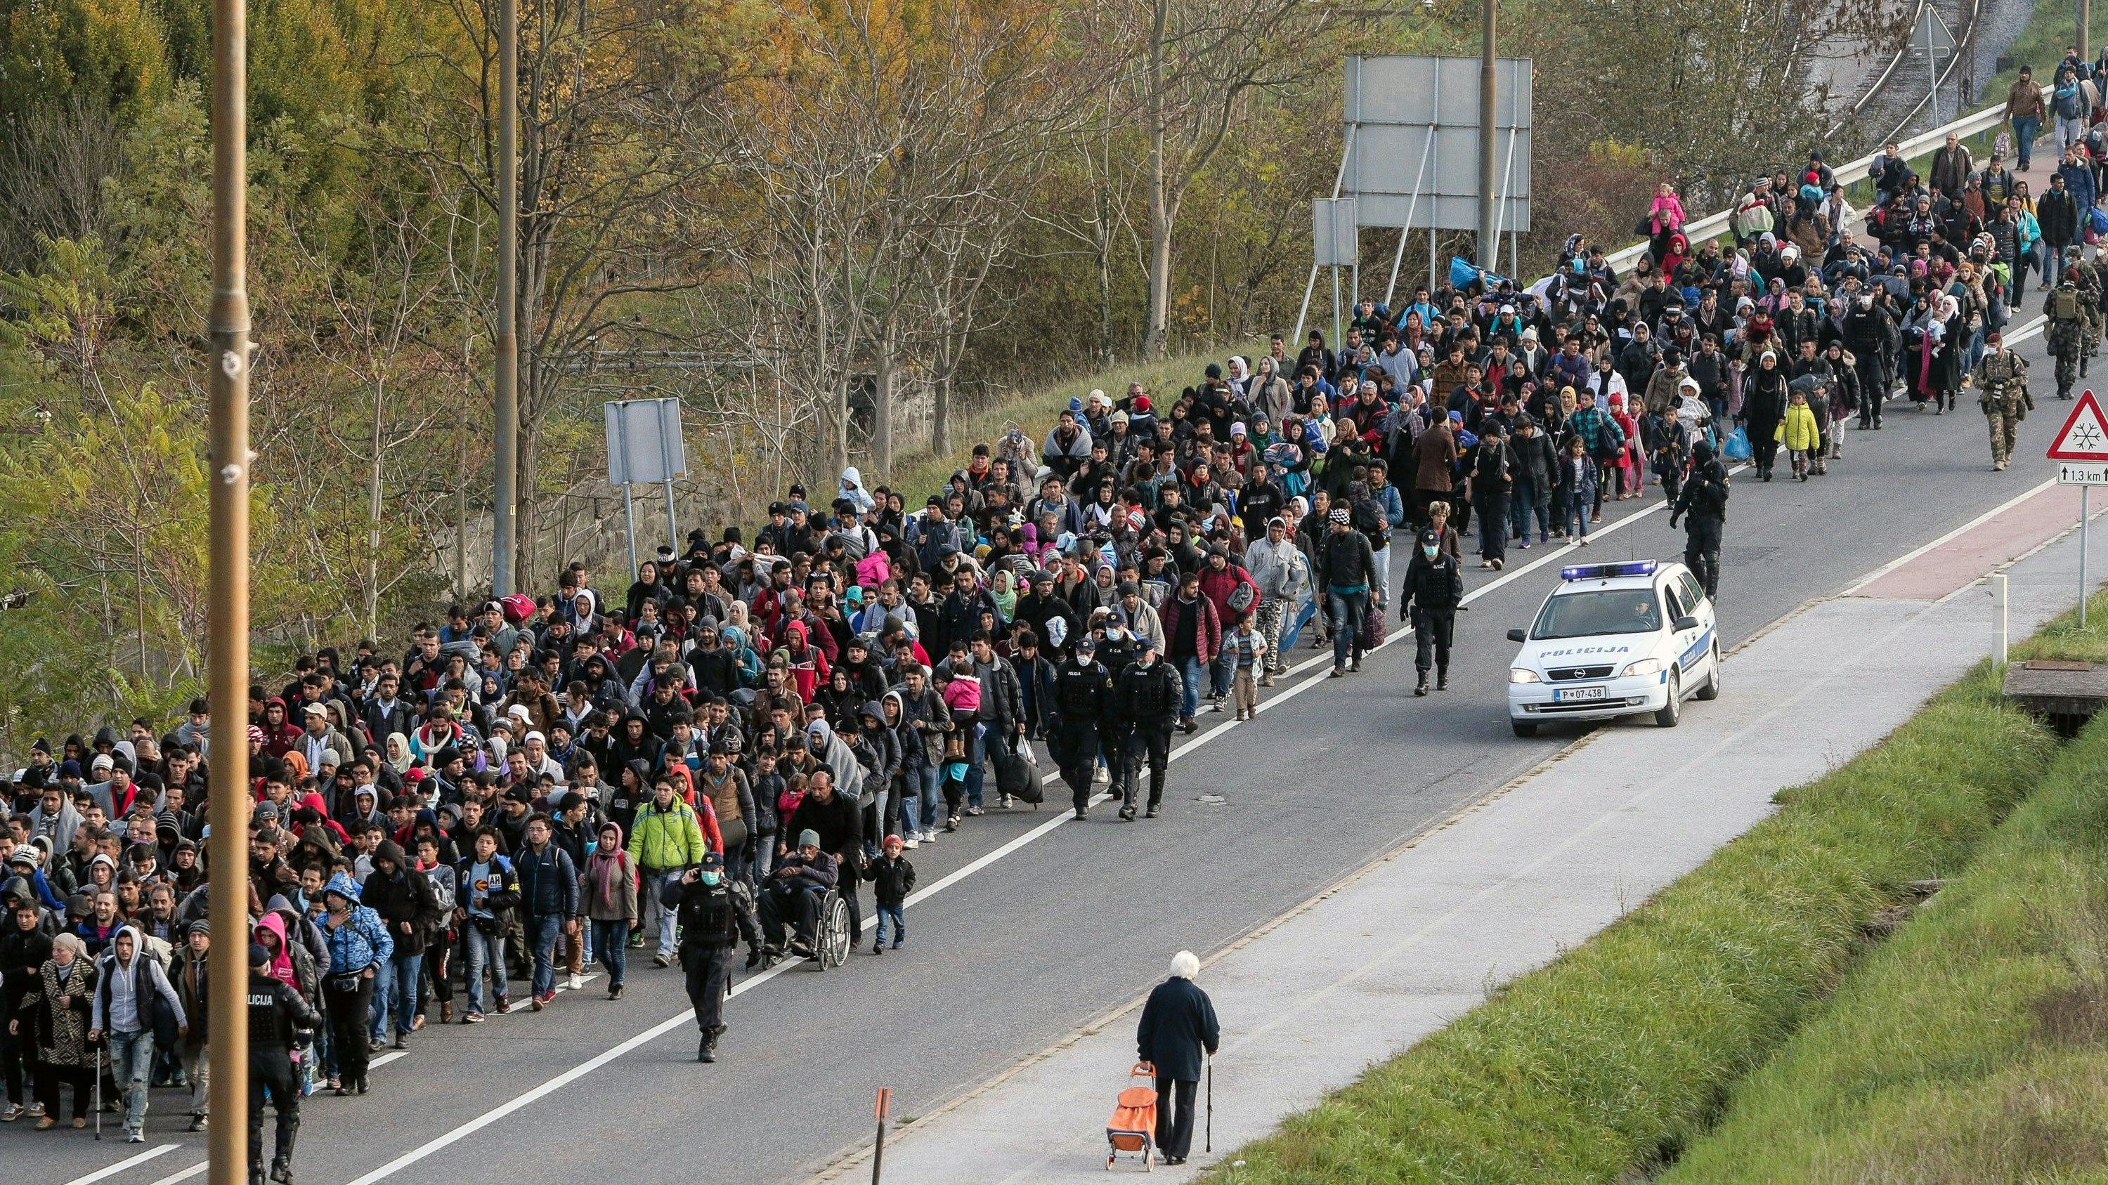
[[[211,755],[211,1185],[249,1183],[249,13],[213,0],[213,361],[207,660]]]

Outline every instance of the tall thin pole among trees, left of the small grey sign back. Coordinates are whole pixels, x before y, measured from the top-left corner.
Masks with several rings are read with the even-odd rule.
[[[497,489],[491,500],[491,595],[512,592],[514,533],[519,531],[519,84],[521,13],[519,0],[497,6]]]

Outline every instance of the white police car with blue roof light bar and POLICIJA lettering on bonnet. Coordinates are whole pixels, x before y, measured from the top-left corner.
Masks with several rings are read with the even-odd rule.
[[[1720,630],[1705,588],[1680,563],[1583,563],[1526,630],[1507,668],[1507,721],[1537,725],[1653,713],[1676,727],[1686,696],[1720,696]]]

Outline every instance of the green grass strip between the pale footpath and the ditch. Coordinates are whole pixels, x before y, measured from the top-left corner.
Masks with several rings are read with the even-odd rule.
[[[1819,1008],[1861,924],[2049,768],[1988,666],[1556,964],[1231,1160],[1261,1183],[1608,1183],[1674,1162]]]

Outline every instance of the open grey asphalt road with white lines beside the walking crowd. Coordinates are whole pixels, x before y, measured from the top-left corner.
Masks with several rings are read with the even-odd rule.
[[[2022,352],[2036,390],[2053,392],[2041,339]],[[1990,472],[1984,420],[1965,392],[1954,415],[1897,401],[1885,430],[1847,426],[1828,477],[1762,485],[1739,474],[1720,578],[1724,645],[2049,477],[2041,451],[2062,413],[2045,399],[2024,426],[2030,460],[2009,472]],[[373,1071],[373,1094],[310,1099],[299,1181],[799,1181],[871,1137],[875,1088],[894,1088],[896,1115],[925,1113],[1134,999],[1172,951],[1233,943],[1568,744],[1579,727],[1509,734],[1514,645],[1503,635],[1528,622],[1560,563],[1680,557],[1682,533],[1657,506],[1608,504],[1598,529],[1629,523],[1587,550],[1556,548],[1533,571],[1518,569],[1554,552],[1509,550],[1499,578],[1469,569],[1469,588],[1499,586],[1473,592],[1459,618],[1446,694],[1410,696],[1410,637],[1345,681],[1313,664],[1271,689],[1254,723],[1202,717],[1172,763],[1162,820],[1121,824],[1100,808],[1090,822],[1056,822],[1067,814],[1056,786],[1039,812],[991,810],[917,850],[928,888],[1010,846],[913,905],[906,949],[858,953],[831,972],[786,966],[742,991],[717,1065],[696,1065],[694,1025],[677,1021],[687,1008],[679,972],[632,953],[622,1002],[607,1002],[597,978],[542,1014],[434,1027]],[[1296,658],[1313,654],[1305,645]],[[1737,711],[1733,666],[1722,700],[1686,711]],[[1204,805],[1204,793],[1225,801]],[[101,1179],[160,1185],[202,1164],[202,1137],[179,1134],[179,1111],[175,1092],[156,1092],[145,1149],[15,1124],[0,1128],[0,1160],[23,1181],[74,1183],[179,1141]]]

